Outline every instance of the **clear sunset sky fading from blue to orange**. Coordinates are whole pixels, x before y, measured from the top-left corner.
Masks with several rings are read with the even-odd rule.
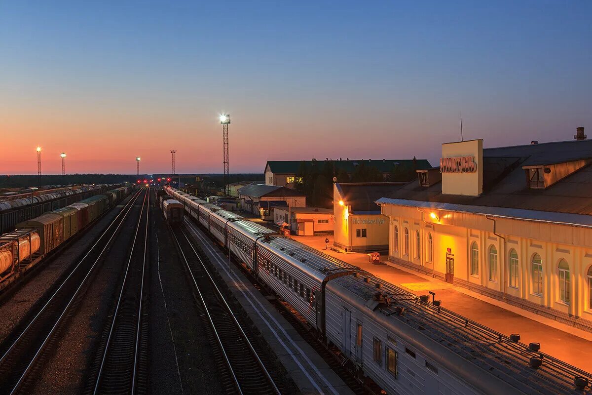
[[[0,2],[0,174],[222,172],[221,111],[230,172],[592,135],[592,2],[503,5]]]

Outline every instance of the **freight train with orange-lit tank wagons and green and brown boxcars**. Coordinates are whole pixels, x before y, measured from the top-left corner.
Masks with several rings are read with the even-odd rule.
[[[15,224],[15,230],[0,236],[0,289],[85,229],[132,190],[133,187],[116,188]]]

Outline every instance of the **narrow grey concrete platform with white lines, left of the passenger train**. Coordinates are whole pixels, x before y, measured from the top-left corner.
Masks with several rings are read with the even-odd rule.
[[[353,395],[352,390],[275,310],[265,296],[253,287],[236,266],[229,264],[228,257],[220,248],[194,223],[185,221],[191,235],[200,243],[211,262],[218,266],[221,277],[265,336],[300,391],[303,394]]]

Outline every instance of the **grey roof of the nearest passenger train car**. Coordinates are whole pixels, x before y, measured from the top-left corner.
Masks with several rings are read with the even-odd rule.
[[[380,284],[379,288],[377,284]],[[575,376],[587,377],[592,381],[592,374],[571,367],[550,355],[530,351],[527,345],[513,342],[507,336],[453,311],[437,307],[429,301],[422,303],[413,293],[384,282],[368,272],[362,272],[359,277],[350,275],[336,278],[328,282],[326,289],[357,305],[362,311],[368,309],[365,310],[367,314],[374,311],[374,316],[380,319],[385,329],[390,329],[403,338],[407,335],[408,342],[422,343],[422,354],[430,355],[433,347],[439,344],[462,358],[466,362],[463,364],[465,368],[475,367],[479,372],[482,370],[482,374],[478,376],[474,371],[465,372],[465,368],[453,364],[448,358],[442,358],[436,352],[433,357],[437,359],[436,363],[443,365],[454,375],[463,377],[465,381],[475,379],[477,381],[473,382],[478,383],[479,380],[493,375],[500,383],[509,383],[512,386],[513,391],[506,391],[506,394],[521,391],[529,395],[572,393]],[[399,314],[401,307],[404,309],[403,314]],[[411,344],[410,346],[413,347]],[[530,367],[530,358],[540,355],[544,356],[543,367]],[[503,393],[501,388],[490,389]]]

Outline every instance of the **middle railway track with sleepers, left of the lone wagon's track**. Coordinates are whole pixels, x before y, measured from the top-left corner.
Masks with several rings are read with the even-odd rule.
[[[144,195],[117,303],[89,374],[87,394],[147,393],[149,191]]]

